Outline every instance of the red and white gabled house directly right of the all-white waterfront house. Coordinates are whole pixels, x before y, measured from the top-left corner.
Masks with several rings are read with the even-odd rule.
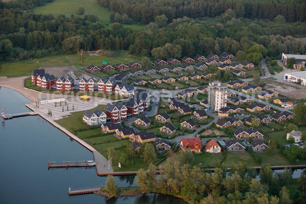
[[[105,114],[110,117],[111,122],[117,122],[121,120],[127,119],[127,108],[125,105],[122,105],[118,102],[113,104],[106,104],[105,108]]]

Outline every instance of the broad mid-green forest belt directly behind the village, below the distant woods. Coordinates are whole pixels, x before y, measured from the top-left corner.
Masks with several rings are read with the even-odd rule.
[[[18,0],[19,6],[40,5],[46,1]],[[36,3],[35,3],[36,2]],[[40,2],[40,3],[38,3]],[[15,4],[13,4],[15,5]],[[78,50],[128,50],[141,57],[168,57],[221,54],[230,52],[257,63],[266,55],[304,54],[306,45],[296,38],[304,37],[306,23],[286,23],[285,17],[273,21],[250,20],[232,9],[215,18],[173,19],[160,15],[143,30],[123,28],[116,22],[105,28],[94,14],[84,17],[42,15],[31,10],[2,3],[0,9],[0,61],[24,60],[58,55]],[[7,9],[10,8],[10,9]],[[115,20],[116,16],[116,20]],[[128,17],[115,13],[114,21]],[[244,58],[245,58],[244,57]],[[243,57],[242,57],[243,58]]]

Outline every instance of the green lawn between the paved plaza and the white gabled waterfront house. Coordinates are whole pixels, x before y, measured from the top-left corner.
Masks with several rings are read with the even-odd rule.
[[[105,104],[104,105],[98,105],[96,108],[100,109],[100,110],[104,110],[105,108]],[[59,104],[58,104],[58,107]],[[95,108],[92,108],[91,111],[95,110]],[[69,130],[69,131],[78,131],[84,128],[87,128],[87,126],[85,126],[83,123],[81,123],[79,120],[77,120],[78,118],[82,118],[84,115],[85,111],[76,111],[76,112],[72,112],[71,115],[68,115],[67,118],[63,118],[63,119],[59,119],[59,120],[55,120],[55,123],[58,123],[60,126],[64,127],[65,129]],[[84,136],[84,135],[83,135]]]

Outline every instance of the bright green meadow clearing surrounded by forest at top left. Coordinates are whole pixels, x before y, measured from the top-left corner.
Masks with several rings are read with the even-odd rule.
[[[111,11],[99,6],[96,0],[55,0],[52,3],[47,3],[45,6],[35,7],[34,13],[52,13],[54,17],[57,17],[60,14],[64,14],[66,16],[73,14],[74,16],[83,17],[84,15],[78,15],[76,13],[79,6],[84,6],[85,14],[95,14],[106,28],[108,28],[111,24]],[[137,22],[133,23],[134,24],[131,25],[124,24],[123,27],[140,30],[144,29],[146,26]]]

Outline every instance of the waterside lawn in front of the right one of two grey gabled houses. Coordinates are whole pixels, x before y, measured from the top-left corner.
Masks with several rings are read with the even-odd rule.
[[[275,165],[292,165],[286,157],[282,155],[279,149],[270,153],[258,153],[262,159],[262,164]]]

